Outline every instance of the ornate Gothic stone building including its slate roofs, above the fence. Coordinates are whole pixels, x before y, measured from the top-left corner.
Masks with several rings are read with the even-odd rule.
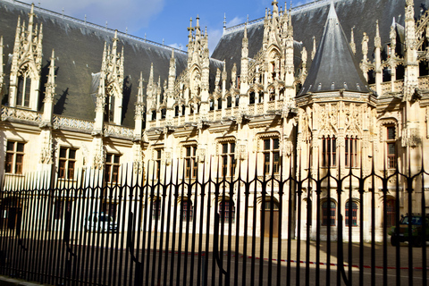
[[[210,172],[233,180],[248,169],[260,178],[418,172],[429,150],[427,7],[425,0],[319,0],[288,11],[273,1],[265,17],[224,27],[210,57],[198,18],[182,52],[1,0],[4,182],[34,171],[73,181],[96,170],[109,184],[121,164],[144,165],[152,181]],[[306,228],[317,210],[324,224],[328,215],[335,223],[341,208],[370,230],[369,195],[360,197],[357,180],[345,184],[342,202],[329,180],[321,206],[313,182],[291,199],[274,185],[268,200],[292,202],[282,220],[313,210],[300,222]],[[399,198],[384,195],[380,181],[366,186],[378,199],[377,239],[394,217],[383,217],[383,203],[408,212],[406,182],[392,178],[387,188],[397,186]],[[223,196],[222,207],[234,209],[241,191]],[[193,199],[180,203],[192,207]],[[367,222],[355,217],[360,208]]]

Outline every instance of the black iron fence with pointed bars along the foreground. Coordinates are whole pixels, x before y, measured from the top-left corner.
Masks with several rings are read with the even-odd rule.
[[[52,285],[427,285],[423,168],[304,178],[186,167],[5,177],[0,274]]]

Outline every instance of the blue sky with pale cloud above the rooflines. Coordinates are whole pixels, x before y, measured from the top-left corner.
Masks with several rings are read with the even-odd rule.
[[[84,20],[111,29],[118,29],[141,38],[186,49],[189,19],[199,15],[200,26],[207,28],[210,53],[223,32],[223,14],[227,27],[263,17],[272,0],[39,0],[22,2]],[[292,6],[314,0],[295,0]],[[284,8],[284,2],[279,1]],[[288,1],[288,8],[290,2]]]

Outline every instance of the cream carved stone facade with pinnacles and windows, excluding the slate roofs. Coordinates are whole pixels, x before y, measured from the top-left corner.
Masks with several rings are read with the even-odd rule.
[[[186,173],[181,165],[179,170],[185,175],[174,172],[173,176],[184,176],[187,180],[202,178],[209,172],[215,176],[221,158],[231,179],[247,170],[257,170],[257,177],[275,178],[281,175],[287,178],[289,174],[316,178],[328,170],[333,177],[349,172],[358,175],[360,170],[367,175],[373,166],[377,173],[386,169],[387,172],[416,171],[420,164],[416,158],[421,160],[422,150],[429,151],[429,77],[421,74],[429,58],[425,48],[429,38],[429,13],[415,20],[414,1],[408,0],[405,10],[398,11],[406,14],[405,26],[393,19],[386,32],[374,19],[371,20],[374,30],[357,35],[356,31],[361,29],[352,29],[351,39],[345,41],[346,52],[353,59],[348,68],[355,69],[358,80],[363,80],[352,86],[334,73],[332,78],[324,74],[324,80],[320,80],[324,66],[314,71],[315,64],[324,63],[317,62],[323,57],[320,54],[326,53],[326,49],[319,46],[324,45],[322,41],[317,43],[323,35],[311,35],[317,40],[306,36],[307,44],[297,40],[300,36],[294,27],[297,19],[294,17],[302,15],[300,13],[322,9],[323,14],[328,15],[327,21],[339,21],[330,4],[322,0],[314,7],[301,8],[307,10],[288,11],[273,1],[263,20],[225,29],[221,44],[234,37],[240,40],[231,44],[235,46],[219,45],[218,49],[236,50],[235,57],[221,57],[223,51],[216,50],[219,56],[210,58],[208,34],[199,27],[198,17],[195,26],[190,21],[187,53],[142,40],[140,43],[134,38],[132,41],[136,42],[131,45],[127,42],[129,39],[124,40],[126,35],[103,30],[109,40],[104,48],[98,46],[97,55],[91,55],[102,59],[101,67],[99,62],[97,67],[88,63],[85,67],[92,73],[88,95],[80,97],[89,98],[90,112],[86,117],[66,114],[67,108],[79,102],[72,103],[67,90],[63,90],[66,88],[57,88],[62,57],[58,57],[58,49],[54,52],[50,46],[50,57],[43,55],[42,20],[36,17],[38,12],[31,6],[28,26],[18,19],[14,43],[3,43],[3,39],[0,43],[0,63],[4,62],[4,45],[13,46],[9,77],[3,78],[7,72],[0,64],[2,92],[4,87],[9,87],[2,106],[1,137],[4,142],[25,143],[23,172],[35,171],[35,165],[38,171],[59,172],[60,160],[63,160],[75,162],[76,169],[105,174],[107,163],[114,164],[107,162],[111,157],[118,158],[118,164],[133,164],[136,173],[145,173],[147,178],[156,180],[168,178],[173,173],[171,168],[176,168],[177,161],[182,159],[192,162],[184,165],[191,171]],[[363,23],[352,25],[358,27]],[[255,43],[257,37],[253,35],[257,29],[261,34]],[[386,33],[391,42],[382,37]],[[401,40],[404,42],[400,43]],[[149,48],[145,46],[147,49],[142,51],[138,44]],[[400,50],[400,46],[405,46],[404,50]],[[129,50],[124,54],[126,48]],[[134,79],[127,76],[127,68],[132,68],[131,62],[137,61],[139,54],[135,58],[130,56],[130,62],[126,62],[130,50],[141,56],[153,53],[133,76],[138,80],[134,89],[128,84],[127,80]],[[357,52],[359,50],[362,52]],[[161,52],[164,54],[156,58]],[[126,63],[130,63],[129,66]],[[44,64],[46,71],[42,71]],[[341,67],[341,64],[346,65],[335,62],[330,66]],[[42,72],[47,80],[41,78]],[[68,72],[70,79],[80,73]],[[143,72],[147,72],[147,80]],[[308,83],[311,80],[314,82]],[[78,86],[80,82],[71,84]],[[62,94],[55,95],[55,92]],[[127,125],[127,120],[131,124]],[[5,160],[4,156],[0,158]],[[155,164],[164,171],[153,173]],[[136,165],[145,167],[140,169]],[[194,173],[192,168],[198,171]],[[4,172],[4,162],[0,162],[0,170]],[[23,173],[5,176],[14,178]],[[396,183],[390,181],[389,187]],[[406,189],[404,181],[398,183],[401,189]],[[351,184],[353,196],[357,196],[356,181]],[[314,190],[315,186],[310,188]],[[366,186],[366,191],[369,189],[379,189],[379,186]],[[239,198],[240,191],[234,190],[231,202]],[[280,196],[275,183],[273,191],[275,196]],[[327,196],[325,190],[323,194]],[[315,196],[315,191],[308,191],[305,199],[296,204],[315,202]],[[391,196],[399,200],[394,197]],[[345,201],[337,207],[344,209],[344,204]],[[312,206],[315,208],[315,203]],[[408,212],[406,206],[400,205],[401,213]],[[367,214],[369,211],[366,208]],[[287,212],[282,215],[282,220],[292,221],[297,216],[293,213],[289,217]],[[316,212],[313,216],[315,220]],[[378,218],[383,220],[380,215]],[[367,223],[365,227],[368,231]],[[376,231],[379,239],[380,225]],[[314,236],[314,232],[310,235]]]

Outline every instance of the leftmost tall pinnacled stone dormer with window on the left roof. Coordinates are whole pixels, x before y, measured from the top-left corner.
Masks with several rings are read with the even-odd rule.
[[[34,4],[29,25],[18,18],[10,75],[9,105],[38,110],[42,64],[42,24],[34,24]]]

